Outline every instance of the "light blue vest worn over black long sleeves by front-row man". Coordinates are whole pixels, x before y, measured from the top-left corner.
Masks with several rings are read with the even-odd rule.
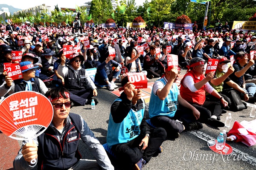
[[[117,98],[115,101],[121,102],[122,99]],[[115,144],[130,142],[140,135],[140,124],[145,111],[145,102],[143,99],[142,101],[143,109],[137,112],[131,109],[121,123],[115,123],[110,113],[107,134],[108,147],[111,148]]]

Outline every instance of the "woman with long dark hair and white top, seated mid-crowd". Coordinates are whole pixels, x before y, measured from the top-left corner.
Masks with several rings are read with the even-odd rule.
[[[129,72],[141,72],[142,68],[140,65],[140,54],[135,48],[132,48],[128,52],[128,56],[131,57],[126,57],[125,58],[125,67],[128,68]],[[145,75],[147,75],[147,71],[142,71]]]

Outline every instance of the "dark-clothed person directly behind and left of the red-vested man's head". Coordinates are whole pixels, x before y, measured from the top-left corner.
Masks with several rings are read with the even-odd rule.
[[[189,65],[188,61],[192,59],[189,45],[185,44],[185,48],[180,50],[178,54],[178,62],[182,68],[186,68]]]

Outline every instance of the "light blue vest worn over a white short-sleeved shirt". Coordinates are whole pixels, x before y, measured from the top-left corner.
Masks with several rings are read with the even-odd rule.
[[[163,85],[166,85],[166,81],[164,78],[159,79],[157,81],[160,81],[163,83]],[[168,116],[173,117],[175,115],[175,112],[177,111],[177,100],[178,100],[178,87],[176,83],[172,84],[172,88],[170,89],[170,92],[168,96],[164,100],[160,100],[157,95],[153,92],[154,86],[151,91],[150,101],[149,101],[149,118],[152,118],[154,116]]]

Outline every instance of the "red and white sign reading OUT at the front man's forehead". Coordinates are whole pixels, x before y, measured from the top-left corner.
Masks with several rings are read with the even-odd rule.
[[[147,77],[143,72],[140,73],[126,73],[129,82],[131,82],[135,88],[148,88]]]

